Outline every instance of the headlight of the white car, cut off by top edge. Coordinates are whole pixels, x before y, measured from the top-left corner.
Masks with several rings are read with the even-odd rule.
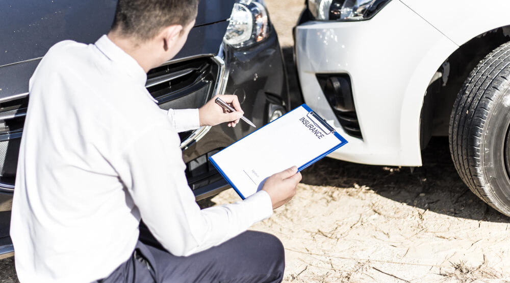
[[[318,20],[353,21],[372,18],[391,0],[308,0]]]

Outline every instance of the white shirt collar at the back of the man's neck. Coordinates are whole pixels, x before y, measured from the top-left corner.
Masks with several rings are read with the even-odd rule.
[[[119,46],[113,43],[106,34],[101,36],[95,42],[95,46],[114,64],[117,64],[121,69],[125,70],[125,72],[132,77],[137,84],[145,86],[147,74],[145,74],[143,68],[133,57],[125,53],[119,48]]]

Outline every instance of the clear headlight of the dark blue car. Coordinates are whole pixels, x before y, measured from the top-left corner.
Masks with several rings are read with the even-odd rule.
[[[267,10],[261,1],[239,0],[229,21],[223,41],[234,48],[250,46],[269,35]]]

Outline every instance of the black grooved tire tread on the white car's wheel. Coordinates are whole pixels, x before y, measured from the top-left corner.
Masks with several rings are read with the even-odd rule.
[[[510,215],[510,207],[493,197],[483,179],[481,138],[495,98],[510,77],[510,42],[486,56],[472,70],[453,105],[449,125],[450,153],[455,169],[471,191],[490,206]]]

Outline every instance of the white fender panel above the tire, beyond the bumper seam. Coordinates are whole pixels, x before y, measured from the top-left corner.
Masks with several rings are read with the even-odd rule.
[[[507,0],[400,0],[457,45],[510,25]]]

